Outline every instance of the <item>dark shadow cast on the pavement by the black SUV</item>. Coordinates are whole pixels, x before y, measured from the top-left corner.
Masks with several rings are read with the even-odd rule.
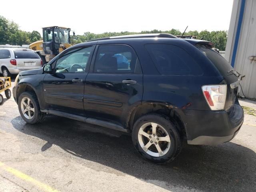
[[[42,152],[55,144],[74,156],[170,191],[255,191],[256,154],[232,142],[219,146],[185,145],[173,162],[153,164],[135,151],[129,135],[114,130],[57,116],[47,116],[36,125],[26,124],[20,116],[11,122],[16,130],[47,141]]]

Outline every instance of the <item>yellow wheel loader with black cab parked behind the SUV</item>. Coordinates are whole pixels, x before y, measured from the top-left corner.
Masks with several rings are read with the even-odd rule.
[[[36,51],[43,64],[46,64],[70,46],[70,28],[52,26],[44,27],[43,40],[30,44],[29,48]]]

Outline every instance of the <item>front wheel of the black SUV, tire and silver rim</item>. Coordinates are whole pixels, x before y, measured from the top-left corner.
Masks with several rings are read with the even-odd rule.
[[[20,94],[18,99],[18,108],[24,121],[30,124],[41,122],[44,113],[40,111],[40,106],[36,95],[32,92]]]

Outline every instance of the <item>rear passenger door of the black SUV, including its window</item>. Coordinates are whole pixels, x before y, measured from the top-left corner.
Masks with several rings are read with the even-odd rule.
[[[98,45],[96,49],[84,89],[86,115],[125,127],[132,108],[142,102],[138,56],[128,45]]]

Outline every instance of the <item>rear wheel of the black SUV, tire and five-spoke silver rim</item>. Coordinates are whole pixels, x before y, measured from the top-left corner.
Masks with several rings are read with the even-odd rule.
[[[143,158],[156,163],[174,160],[182,148],[176,126],[159,114],[139,118],[133,127],[132,141]]]

